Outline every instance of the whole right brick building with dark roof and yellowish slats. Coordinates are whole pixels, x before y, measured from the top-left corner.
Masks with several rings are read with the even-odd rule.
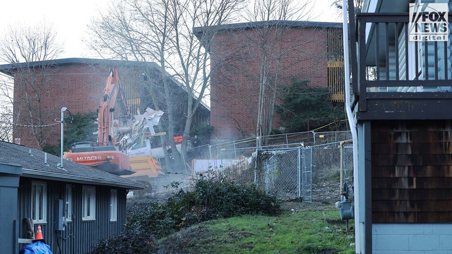
[[[342,24],[269,21],[194,28],[195,33],[207,31],[215,31],[208,49],[211,139],[255,136],[261,66],[268,70],[270,85],[307,80],[310,86],[330,88],[332,99],[343,101]],[[272,123],[273,128],[281,126],[277,115]]]

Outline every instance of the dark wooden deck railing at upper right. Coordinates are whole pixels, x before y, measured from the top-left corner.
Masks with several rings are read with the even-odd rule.
[[[369,96],[389,96],[382,92],[412,97],[406,92],[452,91],[449,36],[448,41],[409,41],[408,13],[356,16],[357,78],[352,85],[359,96],[360,110],[365,109]],[[449,20],[452,21],[451,15]]]

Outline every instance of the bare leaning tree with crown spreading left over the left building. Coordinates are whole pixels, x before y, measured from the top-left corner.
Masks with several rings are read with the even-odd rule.
[[[160,121],[159,129],[167,127],[167,137],[161,136],[162,147],[168,142],[172,151],[177,151],[174,140],[174,101],[169,93],[169,79],[166,72],[166,58],[171,56],[168,36],[173,29],[169,24],[169,0],[133,0],[114,2],[107,13],[100,13],[100,18],[94,19],[90,30],[92,40],[89,46],[103,58],[116,58],[129,61],[158,62],[160,75],[154,75],[152,69],[143,68],[146,82],[143,83],[149,92],[155,110],[165,106],[167,123]],[[163,84],[163,87],[156,86]],[[164,96],[159,96],[163,89]],[[171,142],[172,140],[172,142]],[[163,149],[168,156],[166,150]],[[175,157],[178,164],[182,161]]]

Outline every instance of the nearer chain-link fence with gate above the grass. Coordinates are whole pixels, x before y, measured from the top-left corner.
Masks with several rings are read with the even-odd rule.
[[[350,141],[311,147],[289,146],[224,150],[220,154],[219,168],[230,174],[239,168],[234,169],[237,158],[253,158],[247,159],[246,168],[241,163],[240,173],[231,179],[255,183],[281,199],[302,198],[304,202],[311,202],[340,199],[342,164],[342,180],[350,190],[353,189],[353,145]]]

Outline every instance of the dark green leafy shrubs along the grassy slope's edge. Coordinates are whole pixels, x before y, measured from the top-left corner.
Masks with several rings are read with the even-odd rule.
[[[149,253],[155,241],[181,228],[217,218],[242,214],[276,216],[281,212],[275,196],[255,185],[201,176],[189,190],[172,183],[175,193],[166,202],[135,202],[128,205],[124,232],[97,243],[97,253]],[[113,248],[113,249],[112,249]]]

